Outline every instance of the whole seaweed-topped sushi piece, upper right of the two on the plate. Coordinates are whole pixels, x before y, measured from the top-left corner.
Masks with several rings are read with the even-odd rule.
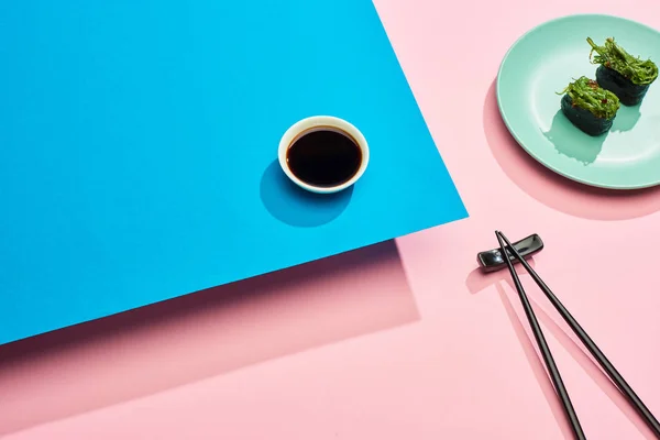
[[[644,100],[649,86],[658,78],[658,66],[650,59],[641,61],[628,54],[614,38],[603,46],[586,38],[592,46],[588,54],[592,64],[600,64],[596,80],[604,89],[614,92],[624,106],[637,106]]]

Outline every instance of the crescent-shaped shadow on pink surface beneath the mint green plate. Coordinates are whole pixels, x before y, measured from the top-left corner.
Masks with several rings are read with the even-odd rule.
[[[607,190],[560,176],[518,145],[497,108],[495,81],[484,102],[484,131],[493,156],[504,173],[525,193],[558,211],[593,220],[625,220],[660,210],[660,187]]]

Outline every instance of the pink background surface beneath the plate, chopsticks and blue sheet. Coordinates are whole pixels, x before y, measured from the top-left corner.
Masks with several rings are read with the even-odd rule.
[[[508,275],[475,271],[495,229],[541,234],[535,266],[660,416],[660,189],[547,172],[512,141],[493,88],[536,24],[602,12],[660,29],[660,3],[480,3],[376,1],[470,219],[2,346],[0,436],[569,439]],[[524,282],[588,438],[652,439]]]

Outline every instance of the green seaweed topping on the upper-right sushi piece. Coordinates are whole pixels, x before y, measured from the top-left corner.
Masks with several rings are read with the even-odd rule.
[[[650,59],[641,61],[628,54],[622,46],[616,44],[613,37],[605,40],[605,45],[598,46],[588,37],[587,43],[592,46],[588,58],[592,64],[601,64],[618,72],[632,84],[648,85],[658,78],[658,66]],[[593,56],[596,52],[596,56]],[[592,59],[593,56],[593,59]]]

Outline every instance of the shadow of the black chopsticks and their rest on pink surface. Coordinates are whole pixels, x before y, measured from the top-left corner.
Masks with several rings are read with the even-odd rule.
[[[529,263],[530,263],[530,266],[536,270],[535,264],[534,264],[534,258],[530,258]],[[521,279],[528,275],[527,271],[525,271],[525,268],[520,267],[519,265],[516,265],[516,272],[518,272],[518,275],[520,276]],[[509,297],[507,296],[507,294],[503,287],[503,283],[508,284],[509,289],[512,292],[516,293],[516,287],[514,286],[514,282],[507,270],[491,273],[491,274],[482,274],[481,271],[477,268],[477,270],[472,271],[468,275],[468,279],[465,280],[465,285],[468,286],[468,289],[473,295],[479,294],[480,292],[484,290],[487,287],[495,286],[495,288],[499,295],[499,298],[502,300],[502,304],[506,310],[506,314],[507,314],[509,320],[512,321],[512,326],[516,332],[516,336],[517,336],[518,340],[520,341],[520,345],[522,346],[522,350],[525,351],[525,355],[527,358],[527,361],[529,362],[529,366],[534,371],[537,382],[539,383],[539,386],[541,387],[543,395],[546,396],[546,399],[548,400],[548,405],[550,406],[550,409],[552,410],[552,415],[554,416],[554,419],[557,420],[558,425],[560,426],[565,439],[566,440],[573,439],[573,433],[570,428],[569,420],[563,413],[563,408],[557,396],[554,386],[552,385],[552,381],[550,380],[550,376],[548,375],[548,372],[546,370],[546,364],[543,363],[543,360],[540,356],[539,351],[537,350],[536,342],[532,342],[532,338],[530,337],[531,330],[529,330],[529,332],[528,332],[529,323],[527,321],[527,318],[524,318],[524,319],[519,318],[520,316],[524,316],[525,312],[522,311],[521,307],[519,307],[518,311],[516,310],[516,307],[514,307],[514,305],[512,304],[512,300],[509,299]],[[527,285],[534,286],[534,288],[537,288],[536,284],[534,282],[531,282],[530,284],[527,284],[527,283],[525,283],[525,284],[526,284],[526,288],[525,288],[526,292],[529,289],[527,287]],[[550,288],[552,288],[552,287],[550,286]],[[582,367],[582,370],[584,370],[584,372],[588,375],[588,377],[591,377],[592,381],[594,381],[594,383],[596,385],[598,385],[598,387],[601,389],[603,389],[605,395],[619,408],[619,410],[622,413],[624,413],[626,415],[628,420],[630,420],[630,422],[632,422],[635,425],[637,430],[645,438],[654,439],[656,437],[654,437],[653,432],[647,427],[647,425],[641,419],[641,417],[639,417],[639,415],[635,411],[635,409],[628,404],[628,402],[626,400],[626,397],[619,392],[619,389],[616,387],[616,385],[614,385],[614,383],[609,380],[609,377],[601,370],[601,367],[595,362],[595,360],[591,356],[588,351],[586,351],[586,349],[581,345],[581,342],[576,342],[579,340],[573,339],[576,337],[573,336],[571,330],[568,330],[568,327],[562,328],[564,322],[563,322],[563,320],[561,320],[561,317],[558,315],[557,319],[561,320],[562,326],[558,324],[556,322],[556,320],[553,318],[551,318],[543,310],[543,308],[532,299],[532,297],[531,297],[531,295],[529,295],[529,293],[528,293],[528,297],[529,297],[529,302],[531,304],[531,307],[534,308],[537,319],[539,320],[540,323],[543,324],[543,333],[546,334],[546,338],[548,337],[548,334],[552,334],[552,337],[554,337],[554,339],[557,339],[562,344],[562,346],[566,350],[566,352],[578,362],[578,364]],[[517,298],[518,297],[517,297],[517,293],[516,293],[516,301],[517,301],[516,304],[519,304],[519,300]],[[561,297],[560,297],[560,300],[561,300]],[[575,317],[575,319],[579,319],[579,318]],[[569,331],[571,332],[570,334],[568,333]],[[588,330],[587,330],[587,332],[588,332]],[[591,334],[591,337],[597,343],[597,336]],[[610,359],[610,361],[616,366],[616,360]],[[561,372],[561,366],[559,366],[559,369]],[[571,393],[571,391],[569,389],[569,394],[570,393]],[[644,400],[642,394],[640,394],[640,397]],[[575,407],[578,410],[579,405],[575,404]],[[580,417],[580,414],[578,414],[578,417]]]

